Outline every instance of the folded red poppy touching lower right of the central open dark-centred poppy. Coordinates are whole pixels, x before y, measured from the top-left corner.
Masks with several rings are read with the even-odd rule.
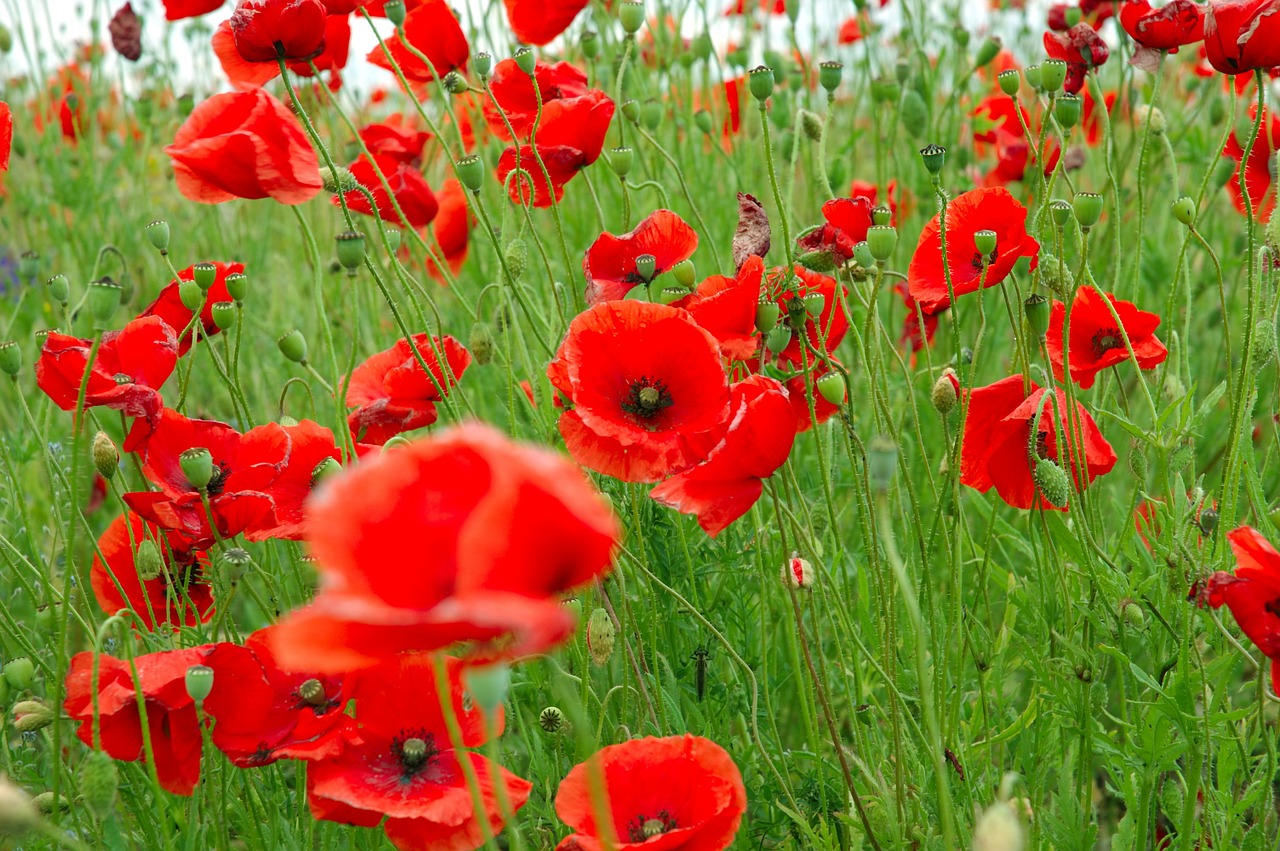
[[[778,381],[751,375],[731,389],[730,421],[719,443],[695,467],[677,472],[649,495],[685,514],[712,537],[750,511],[791,454],[796,415]]]

